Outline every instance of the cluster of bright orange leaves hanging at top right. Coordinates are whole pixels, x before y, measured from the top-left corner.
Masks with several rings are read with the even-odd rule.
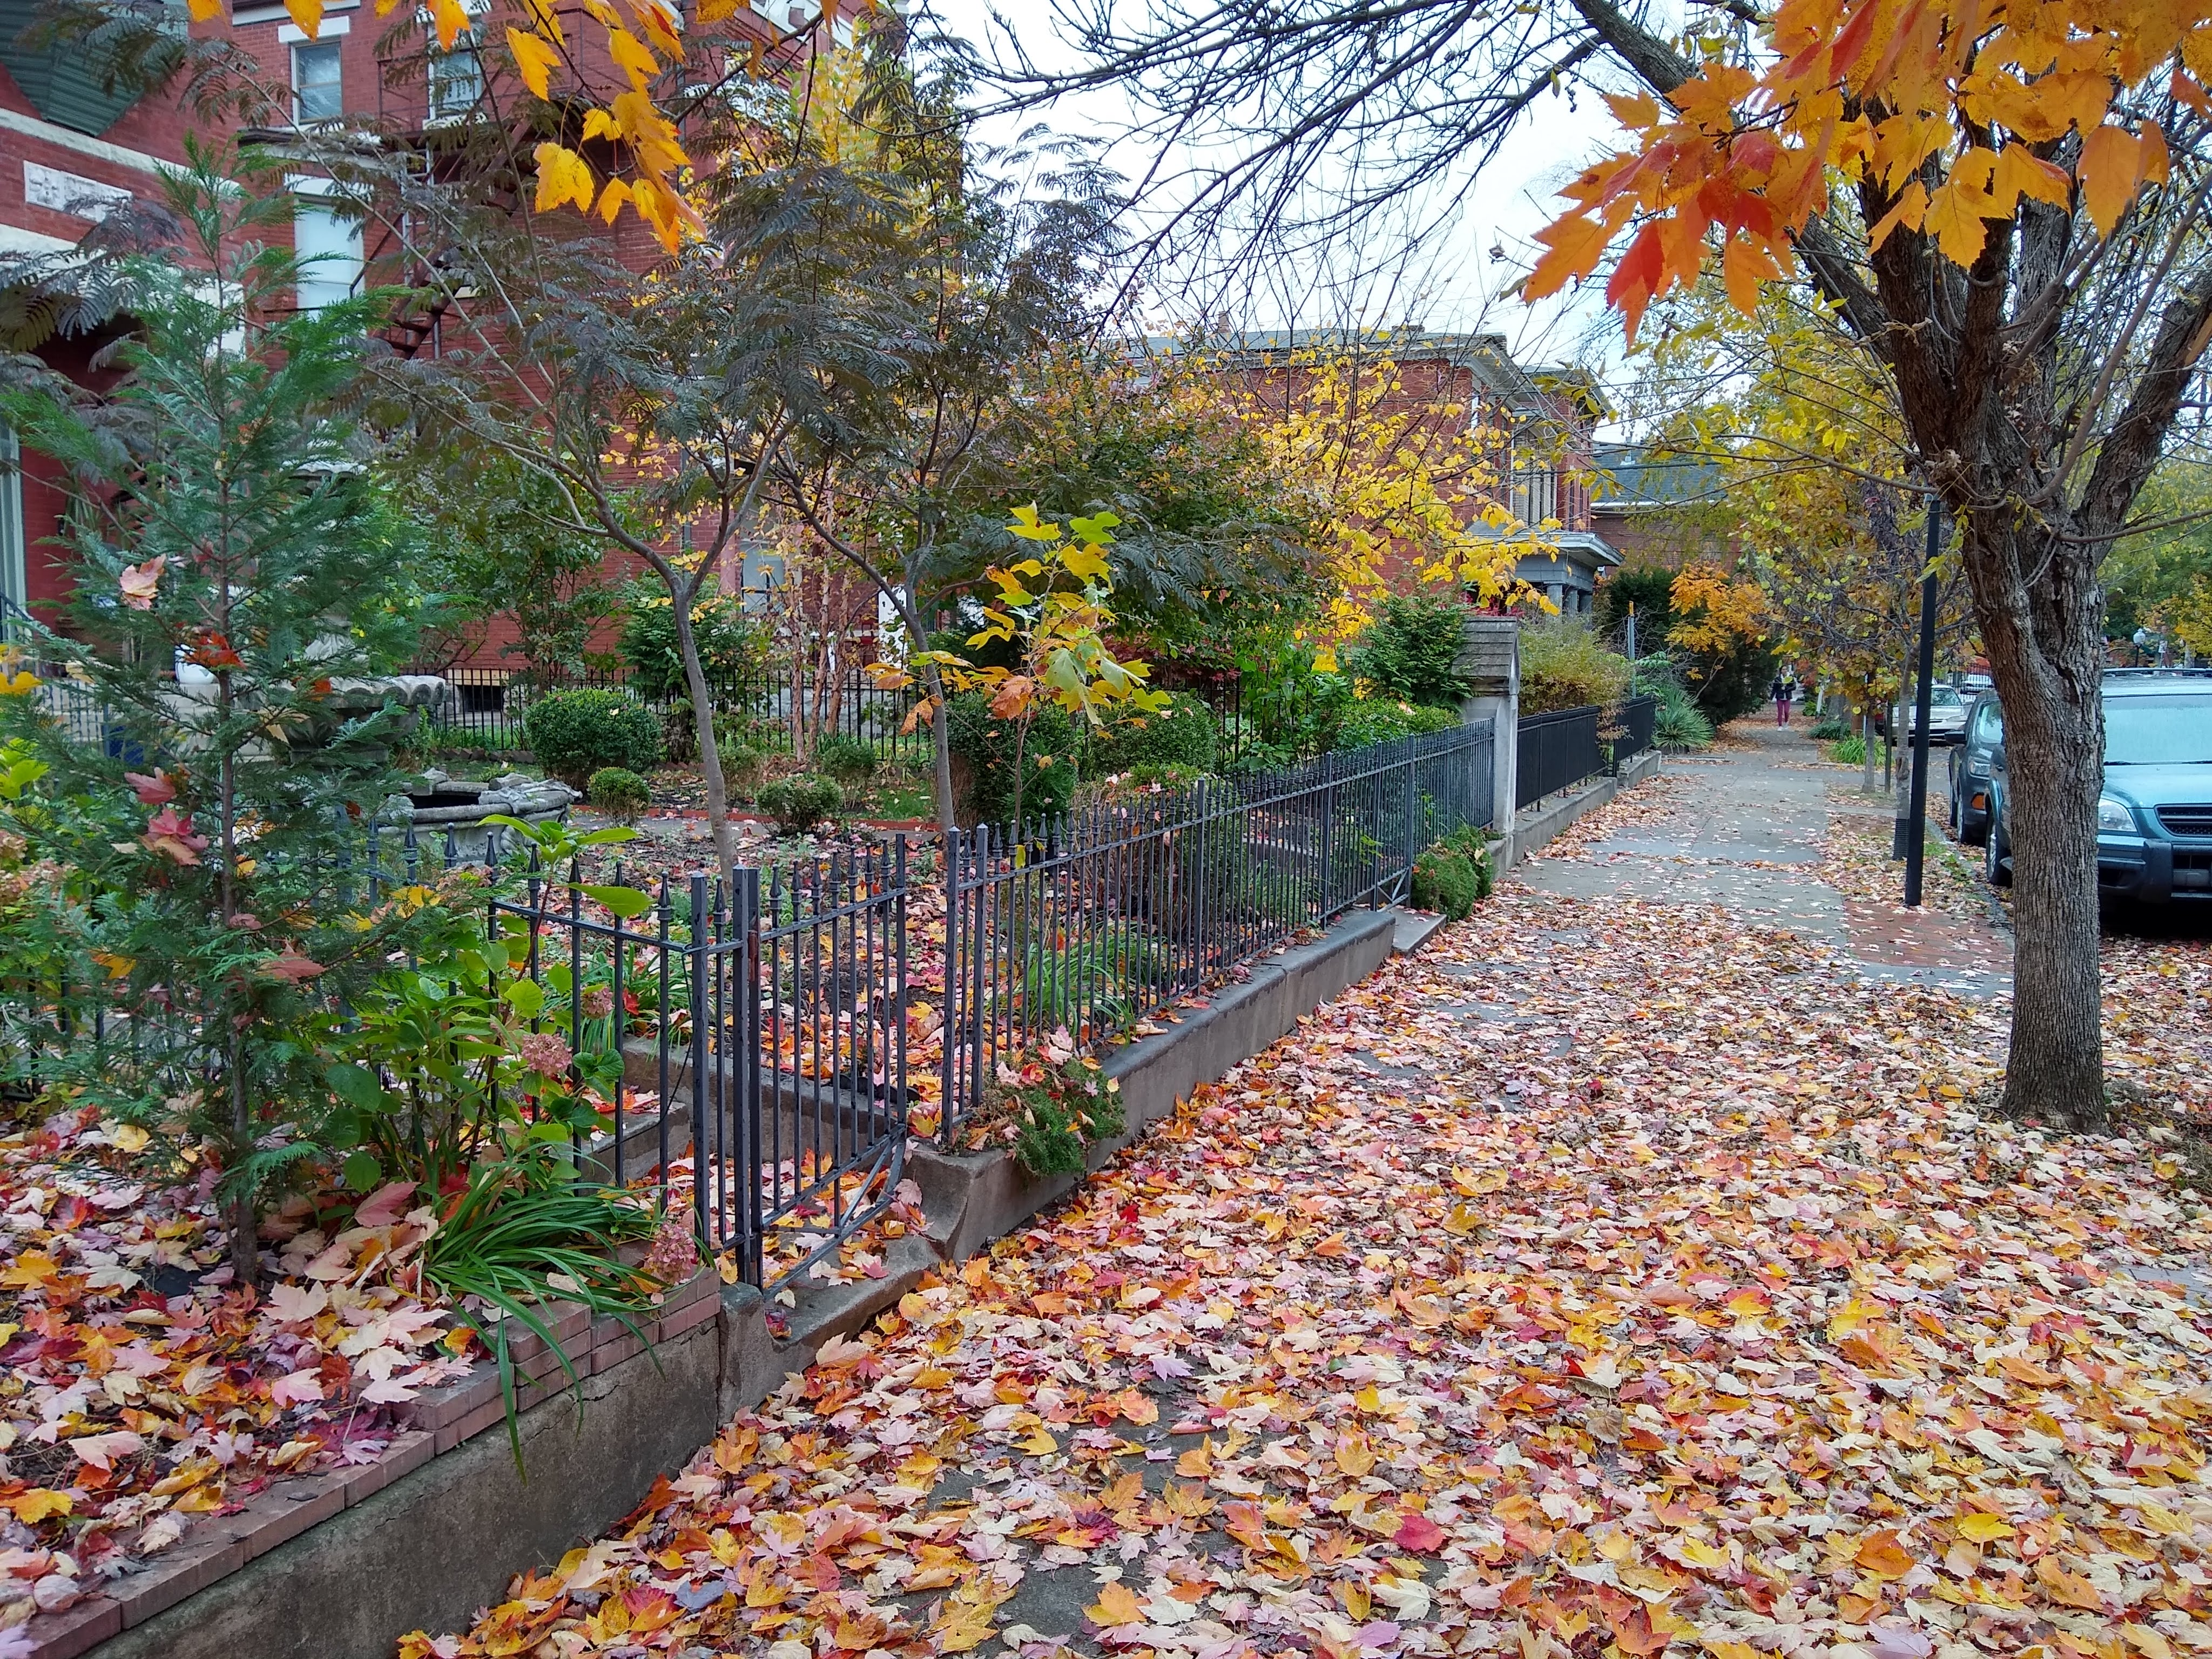
[[[1717,239],[1750,312],[1832,188],[1887,204],[1869,212],[1874,248],[1902,228],[1955,265],[2024,201],[2086,212],[2110,237],[2168,177],[2166,131],[2143,108],[2212,111],[2208,0],[1783,0],[1765,46],[1756,66],[1708,55],[1670,108],[1610,100],[1632,144],[1568,186],[1528,299],[1593,274],[1628,237],[1606,301],[1635,334]]]

